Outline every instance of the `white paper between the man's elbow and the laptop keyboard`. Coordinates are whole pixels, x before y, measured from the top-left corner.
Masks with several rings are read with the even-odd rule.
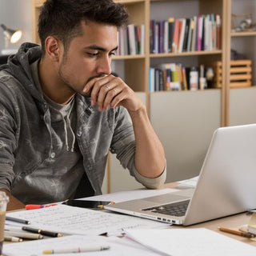
[[[174,189],[164,189],[164,190],[147,190],[147,189],[140,189],[140,190],[127,190],[127,191],[120,191],[111,194],[101,194],[96,195],[94,197],[89,198],[81,198],[84,200],[98,200],[98,201],[113,201],[113,202],[124,202],[128,200],[134,200],[139,198],[147,198],[153,197],[159,194],[166,194],[170,192],[176,192],[178,190]]]

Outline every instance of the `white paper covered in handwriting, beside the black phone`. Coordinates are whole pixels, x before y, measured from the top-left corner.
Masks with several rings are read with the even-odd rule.
[[[161,228],[165,223],[138,217],[106,213],[73,206],[58,205],[37,210],[21,210],[6,214],[26,219],[43,230],[62,234],[122,234],[124,228]]]

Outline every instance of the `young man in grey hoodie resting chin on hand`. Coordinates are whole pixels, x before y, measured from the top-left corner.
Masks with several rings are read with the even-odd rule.
[[[22,44],[1,66],[0,189],[9,209],[101,194],[109,150],[144,186],[165,182],[146,107],[111,74],[126,20],[111,0],[47,0],[42,47]]]

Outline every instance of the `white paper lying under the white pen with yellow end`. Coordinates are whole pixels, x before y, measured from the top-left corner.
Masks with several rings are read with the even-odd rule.
[[[110,246],[109,250],[102,250],[96,252],[79,253],[80,256],[89,255],[110,255],[110,256],[131,256],[131,255],[145,255],[156,256],[159,255],[152,250],[147,249],[144,246],[139,245],[136,242],[132,242],[127,238],[115,238],[115,237],[102,237],[102,236],[80,236],[69,235],[62,238],[49,238],[36,240],[31,242],[15,242],[12,244],[4,244],[3,254],[8,256],[41,256],[42,250],[63,249],[79,247],[84,245],[100,245]],[[58,256],[74,256],[76,254],[58,254]]]

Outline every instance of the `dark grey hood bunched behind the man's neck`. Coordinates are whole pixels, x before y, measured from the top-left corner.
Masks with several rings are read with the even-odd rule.
[[[41,58],[41,55],[41,46],[25,42],[19,47],[17,54],[10,55],[7,64],[0,66],[0,70],[5,70],[17,78],[21,85],[39,101],[42,101],[42,96],[34,86],[30,64]]]

